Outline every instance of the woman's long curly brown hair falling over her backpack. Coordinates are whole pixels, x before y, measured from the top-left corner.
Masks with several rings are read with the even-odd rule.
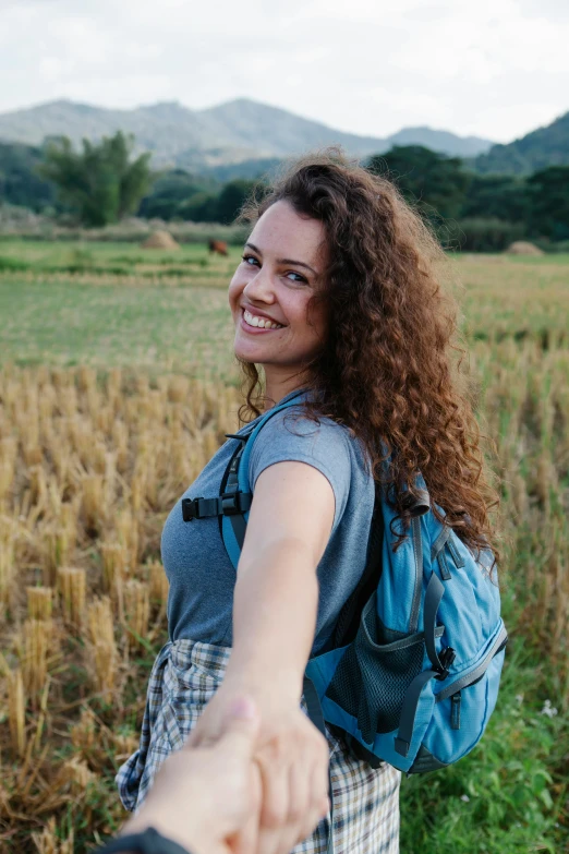
[[[496,561],[488,512],[498,496],[460,370],[465,350],[456,342],[458,305],[441,287],[448,261],[438,241],[389,180],[337,148],[295,160],[245,204],[241,221],[256,221],[278,201],[322,221],[327,238],[323,287],[308,304],[310,318],[324,301],[327,339],[306,365],[317,402],[307,401],[305,413],[361,440],[402,520],[400,542],[410,521],[404,493],[415,494],[420,471],[436,518],[472,550],[489,546]],[[245,421],[243,411],[258,416],[266,398],[256,365],[238,361]]]

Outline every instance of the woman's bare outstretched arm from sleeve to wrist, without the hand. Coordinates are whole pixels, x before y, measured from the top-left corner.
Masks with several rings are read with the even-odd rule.
[[[238,567],[228,679],[300,700],[316,626],[316,567],[334,510],[329,481],[305,462],[278,462],[258,477]]]

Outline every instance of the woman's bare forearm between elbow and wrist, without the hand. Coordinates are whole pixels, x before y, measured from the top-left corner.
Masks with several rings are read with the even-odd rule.
[[[300,699],[317,606],[314,556],[302,542],[281,541],[240,563],[226,682],[255,696]]]

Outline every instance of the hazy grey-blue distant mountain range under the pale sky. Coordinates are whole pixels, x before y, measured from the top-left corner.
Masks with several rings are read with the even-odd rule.
[[[457,136],[432,128],[405,128],[387,137],[360,136],[303,119],[287,110],[247,98],[218,107],[191,110],[175,101],[111,110],[56,100],[0,115],[0,140],[39,145],[45,137],[65,135],[78,143],[122,130],[133,133],[141,151],[153,153],[155,166],[191,171],[258,171],[267,165],[319,146],[341,145],[350,155],[383,154],[392,145],[424,145],[443,154],[476,157],[493,143],[477,136]],[[235,169],[242,165],[240,169]]]

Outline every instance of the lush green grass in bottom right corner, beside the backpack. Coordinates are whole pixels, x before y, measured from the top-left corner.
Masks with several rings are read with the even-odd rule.
[[[561,686],[518,633],[513,592],[504,602],[509,642],[496,710],[469,756],[444,771],[403,777],[401,854],[569,851],[569,727],[560,709],[543,713],[546,700],[556,708]]]

